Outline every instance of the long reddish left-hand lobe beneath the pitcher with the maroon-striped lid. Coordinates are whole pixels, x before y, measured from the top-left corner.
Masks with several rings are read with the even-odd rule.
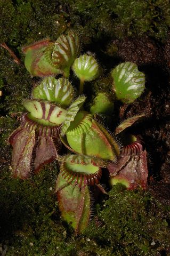
[[[27,179],[30,174],[30,163],[35,145],[35,131],[29,132],[26,129],[18,128],[11,134],[9,142],[13,146],[13,176]]]

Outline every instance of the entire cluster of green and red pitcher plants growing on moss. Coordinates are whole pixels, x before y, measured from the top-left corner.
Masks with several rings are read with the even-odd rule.
[[[128,127],[144,115],[128,118],[117,127],[115,135],[121,138],[120,147],[96,117],[113,111],[114,102],[109,95],[96,95],[90,113],[86,111],[84,83],[99,77],[101,67],[93,54],[80,55],[75,31],[70,30],[55,42],[45,39],[26,46],[23,52],[29,73],[45,78],[34,87],[31,99],[23,101],[27,113],[21,116],[20,127],[9,138],[13,146],[13,176],[27,179],[44,164],[58,160],[59,208],[63,219],[81,233],[90,218],[92,194],[106,194],[100,184],[103,172],[110,173],[111,185],[146,188],[147,152],[142,139],[128,133]],[[77,98],[68,79],[70,69],[80,80]],[[111,76],[116,100],[129,104],[142,94],[144,74],[134,63],[120,63],[111,70]],[[62,145],[68,149],[66,155],[60,155]]]

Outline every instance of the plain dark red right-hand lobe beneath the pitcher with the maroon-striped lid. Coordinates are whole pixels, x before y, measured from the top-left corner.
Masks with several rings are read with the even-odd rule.
[[[44,164],[51,163],[56,157],[57,152],[52,137],[39,136],[34,161],[35,173],[38,173]]]

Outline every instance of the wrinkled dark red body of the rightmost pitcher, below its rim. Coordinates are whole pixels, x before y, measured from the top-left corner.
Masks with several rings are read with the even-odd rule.
[[[148,168],[147,153],[142,151],[135,156],[121,156],[117,164],[112,163],[108,166],[111,173],[111,184],[122,183],[127,189],[135,189],[141,186],[147,187]]]

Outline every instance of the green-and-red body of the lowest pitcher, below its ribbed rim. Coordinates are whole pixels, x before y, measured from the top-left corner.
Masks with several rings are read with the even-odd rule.
[[[88,187],[69,185],[60,173],[56,182],[56,192],[62,218],[75,229],[76,233],[82,233],[90,217]]]

